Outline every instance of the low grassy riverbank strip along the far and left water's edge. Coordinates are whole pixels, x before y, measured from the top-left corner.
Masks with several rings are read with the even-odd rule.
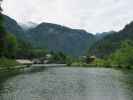
[[[22,61],[22,60],[21,60]],[[31,63],[23,60],[22,63]],[[38,71],[46,67],[84,67],[84,68],[115,68],[120,70],[132,69],[132,66],[120,65],[103,65],[103,64],[86,64],[86,63],[72,63],[70,66],[67,64],[20,64],[16,60],[1,58],[0,59],[0,79],[3,80],[15,74],[19,74],[24,70]],[[29,71],[30,72],[30,71]],[[0,80],[0,81],[1,81]]]

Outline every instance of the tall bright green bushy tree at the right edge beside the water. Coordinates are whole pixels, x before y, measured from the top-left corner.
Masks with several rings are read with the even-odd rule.
[[[133,65],[133,42],[126,40],[122,42],[121,48],[111,54],[109,61],[112,65],[123,67]]]

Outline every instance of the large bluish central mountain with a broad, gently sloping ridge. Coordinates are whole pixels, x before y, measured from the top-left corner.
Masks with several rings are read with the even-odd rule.
[[[84,30],[52,23],[41,23],[30,29],[27,35],[34,47],[48,48],[50,51],[61,51],[73,56],[83,55],[94,41],[94,36]]]

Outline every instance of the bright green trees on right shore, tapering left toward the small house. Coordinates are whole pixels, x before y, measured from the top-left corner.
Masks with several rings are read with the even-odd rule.
[[[89,64],[98,67],[113,68],[133,68],[133,41],[125,40],[121,42],[120,48],[105,58],[96,58]]]

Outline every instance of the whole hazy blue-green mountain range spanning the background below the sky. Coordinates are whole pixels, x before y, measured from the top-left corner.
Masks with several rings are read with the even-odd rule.
[[[52,23],[19,25],[14,19],[5,16],[5,28],[7,32],[29,42],[35,48],[47,48],[49,51],[64,52],[72,56],[84,55],[89,50],[89,55],[105,57],[118,49],[122,41],[133,39],[133,22],[119,32],[93,35],[85,30]]]

